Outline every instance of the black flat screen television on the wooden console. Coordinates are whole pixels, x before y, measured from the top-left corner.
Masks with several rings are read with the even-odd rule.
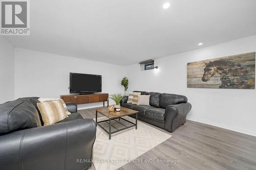
[[[101,92],[101,75],[70,72],[70,93]]]

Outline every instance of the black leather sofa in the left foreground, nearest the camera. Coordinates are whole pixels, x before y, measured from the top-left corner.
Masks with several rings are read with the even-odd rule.
[[[90,167],[96,137],[94,120],[83,119],[76,104],[67,103],[72,113],[68,118],[41,126],[37,99],[21,98],[0,105],[0,169]]]

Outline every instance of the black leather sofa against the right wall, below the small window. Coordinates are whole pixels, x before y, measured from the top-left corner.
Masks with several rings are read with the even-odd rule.
[[[137,110],[138,119],[146,123],[173,132],[186,122],[186,116],[191,110],[191,104],[184,95],[134,91],[141,95],[150,95],[150,106],[127,103],[128,96],[124,96],[120,105]],[[132,115],[132,117],[135,117]]]

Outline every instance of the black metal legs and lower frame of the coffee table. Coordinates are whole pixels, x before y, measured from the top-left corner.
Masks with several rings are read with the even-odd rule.
[[[116,121],[116,119],[119,119],[119,124],[121,124],[122,126],[124,126],[124,128],[121,128],[121,129],[117,129],[117,128],[115,128],[113,125],[112,125],[112,121]],[[130,125],[130,126],[126,126],[125,124],[124,124],[124,122],[120,122],[120,119],[122,119],[122,120],[124,120],[124,122],[128,122],[128,123],[130,123],[130,124],[132,124],[132,125]],[[135,119],[135,121],[136,121],[136,123],[132,123],[131,121],[129,121],[129,120],[127,120],[127,119],[125,119],[125,118],[122,118],[122,117],[116,117],[116,118],[111,118],[111,119],[106,119],[106,120],[102,120],[102,121],[100,121],[100,122],[97,122],[97,112],[96,112],[96,126],[99,126],[102,130],[104,130],[106,133],[108,133],[109,134],[109,139],[111,139],[111,134],[113,134],[113,133],[117,133],[117,132],[120,132],[120,131],[122,131],[122,130],[125,130],[125,129],[129,129],[129,128],[132,128],[132,127],[135,127],[135,129],[137,130],[137,113],[136,113],[136,119]],[[100,125],[100,123],[104,123],[104,122],[106,122],[106,123],[108,123],[109,124],[109,131],[107,131],[103,126],[101,126]],[[117,121],[116,121],[117,122]],[[111,131],[111,128],[115,128],[115,129],[117,129],[117,130],[115,130],[115,131]]]

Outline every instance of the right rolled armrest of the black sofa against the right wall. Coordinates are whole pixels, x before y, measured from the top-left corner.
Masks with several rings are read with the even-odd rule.
[[[190,110],[191,104],[188,102],[167,106],[164,113],[164,129],[173,132],[176,128],[184,124]]]

